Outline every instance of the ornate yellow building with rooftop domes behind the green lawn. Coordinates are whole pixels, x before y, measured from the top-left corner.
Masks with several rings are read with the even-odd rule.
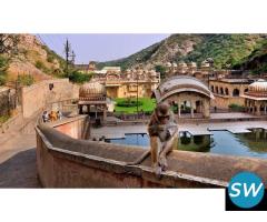
[[[105,85],[108,98],[150,98],[160,82],[160,73],[155,70],[132,69],[125,73],[96,75],[92,81]]]

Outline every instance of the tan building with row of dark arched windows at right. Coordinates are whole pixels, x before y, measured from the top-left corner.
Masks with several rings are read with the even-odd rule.
[[[209,89],[215,95],[210,105],[218,109],[228,109],[230,104],[245,105],[240,95],[248,91],[250,83],[249,79],[210,78]]]

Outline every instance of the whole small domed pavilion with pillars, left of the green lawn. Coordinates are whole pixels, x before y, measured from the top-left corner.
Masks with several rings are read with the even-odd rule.
[[[89,82],[79,90],[79,112],[88,113],[92,119],[106,121],[107,118],[107,93],[102,84]]]

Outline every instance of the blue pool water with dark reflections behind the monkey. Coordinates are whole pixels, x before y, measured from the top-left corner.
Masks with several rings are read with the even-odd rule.
[[[238,134],[228,131],[210,131],[210,135],[191,135],[188,132],[180,132],[177,149],[267,159],[267,131],[264,129],[253,129],[249,133]],[[149,147],[147,134],[127,134],[125,139],[107,140],[107,142]]]

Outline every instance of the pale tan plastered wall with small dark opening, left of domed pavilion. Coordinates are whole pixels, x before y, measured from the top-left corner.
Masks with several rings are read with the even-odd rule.
[[[78,98],[78,87],[70,83],[68,79],[46,80],[22,88],[21,98],[23,117],[29,118],[48,104]]]

